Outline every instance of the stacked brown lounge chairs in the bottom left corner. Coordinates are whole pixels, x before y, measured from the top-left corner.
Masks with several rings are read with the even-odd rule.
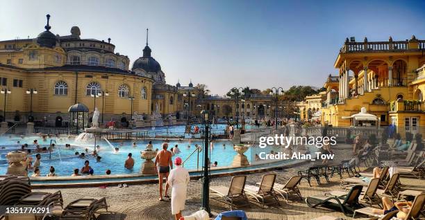
[[[31,192],[28,177],[0,176],[0,205],[24,205],[33,208],[49,208],[50,213],[39,214],[14,214],[0,213],[0,219],[5,220],[41,220],[41,219],[96,219],[100,210],[108,211],[106,198],[84,198],[72,201],[63,208],[63,196],[57,192]],[[56,217],[56,218],[55,218]]]

